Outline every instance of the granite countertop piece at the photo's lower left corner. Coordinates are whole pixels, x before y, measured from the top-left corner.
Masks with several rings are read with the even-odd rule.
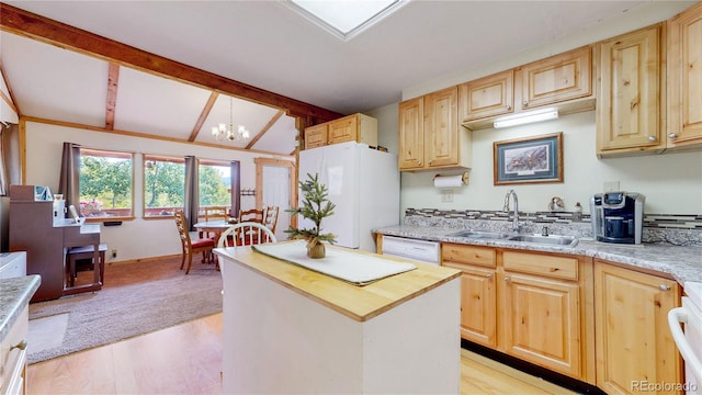
[[[4,340],[41,282],[42,278],[36,274],[0,280],[0,341]]]

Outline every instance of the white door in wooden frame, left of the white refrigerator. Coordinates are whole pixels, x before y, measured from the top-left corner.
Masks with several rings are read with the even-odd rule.
[[[278,206],[278,224],[275,238],[287,239],[285,230],[290,227],[291,214],[285,210],[296,206],[295,202],[295,163],[290,160],[256,158],[256,206]]]

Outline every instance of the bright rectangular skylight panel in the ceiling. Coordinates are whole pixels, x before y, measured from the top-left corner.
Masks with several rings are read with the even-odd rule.
[[[408,0],[290,0],[292,9],[341,40],[389,15]]]

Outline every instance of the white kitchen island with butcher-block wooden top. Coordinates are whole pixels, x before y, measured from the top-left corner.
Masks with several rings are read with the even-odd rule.
[[[358,286],[250,247],[215,253],[223,393],[458,393],[460,271],[416,263]]]

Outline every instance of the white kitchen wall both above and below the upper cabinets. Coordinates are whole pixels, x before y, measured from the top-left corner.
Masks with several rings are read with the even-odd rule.
[[[558,37],[547,45],[526,48],[483,67],[438,76],[421,84],[408,87],[403,91],[403,100],[647,26],[664,21],[693,3],[695,1],[648,2],[616,19]],[[369,114],[378,119],[378,140],[382,142],[380,144],[397,153],[397,104],[376,109]],[[564,133],[563,183],[506,187],[492,184],[492,142],[553,132]],[[566,210],[573,210],[575,203],[580,202],[585,212],[589,213],[589,199],[602,191],[604,181],[620,181],[620,189],[644,193],[647,213],[702,213],[702,153],[599,160],[595,155],[593,111],[541,124],[477,132],[463,129],[462,133],[473,133],[473,169],[469,171],[468,185],[453,190],[452,202],[442,202],[442,193],[433,188],[432,182],[437,171],[404,172],[400,193],[403,213],[408,207],[501,210],[505,194],[512,188],[518,192],[520,210],[523,211],[546,210],[550,198],[561,196],[566,203]],[[458,174],[460,171],[439,173]]]

